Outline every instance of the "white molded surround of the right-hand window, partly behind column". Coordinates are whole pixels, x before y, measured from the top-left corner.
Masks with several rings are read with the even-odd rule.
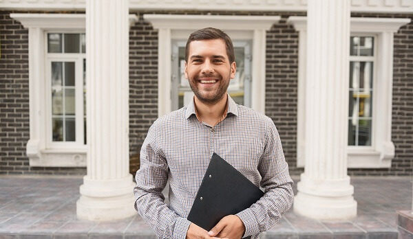
[[[354,1],[353,1],[354,2]],[[350,19],[352,34],[372,34],[377,39],[377,65],[374,76],[372,147],[348,146],[348,168],[390,168],[394,158],[392,142],[392,82],[393,82],[393,35],[410,19],[359,18]],[[299,32],[298,65],[298,119],[297,119],[297,167],[304,167],[306,129],[306,16],[290,16],[287,23]]]

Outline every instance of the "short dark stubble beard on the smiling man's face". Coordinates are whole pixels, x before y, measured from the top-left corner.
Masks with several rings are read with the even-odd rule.
[[[211,76],[204,76],[204,77],[211,77]],[[230,76],[228,76],[228,78],[230,78]],[[200,100],[200,102],[204,104],[213,105],[213,104],[218,103],[224,97],[226,90],[229,87],[229,80],[226,80],[226,82],[224,82],[224,80],[222,79],[222,76],[220,76],[220,79],[217,81],[220,84],[220,87],[218,87],[217,92],[215,93],[215,95],[213,95],[212,98],[204,97],[204,95],[200,93],[200,90],[198,89],[199,76],[195,76],[195,78],[189,79],[189,86],[191,87],[192,92],[195,94],[196,98]]]

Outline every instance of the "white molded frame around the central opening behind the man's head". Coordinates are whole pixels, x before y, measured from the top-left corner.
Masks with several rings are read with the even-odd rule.
[[[171,41],[186,41],[191,32],[217,27],[235,40],[253,41],[251,108],[265,113],[266,30],[280,16],[145,14],[158,34],[158,116],[171,112]]]

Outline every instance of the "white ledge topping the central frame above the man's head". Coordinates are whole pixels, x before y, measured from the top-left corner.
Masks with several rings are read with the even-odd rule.
[[[156,29],[198,30],[216,27],[222,30],[268,30],[281,16],[144,14],[143,19]]]

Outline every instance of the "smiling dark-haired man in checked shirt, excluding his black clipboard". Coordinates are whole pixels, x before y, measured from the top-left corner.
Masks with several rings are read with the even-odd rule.
[[[185,77],[195,96],[149,128],[136,172],[135,208],[159,238],[258,238],[293,202],[293,181],[275,125],[226,93],[236,65],[231,38],[224,32],[193,32],[185,61]],[[264,196],[206,231],[187,216],[213,152],[261,185]],[[162,195],[168,179],[169,205]]]

